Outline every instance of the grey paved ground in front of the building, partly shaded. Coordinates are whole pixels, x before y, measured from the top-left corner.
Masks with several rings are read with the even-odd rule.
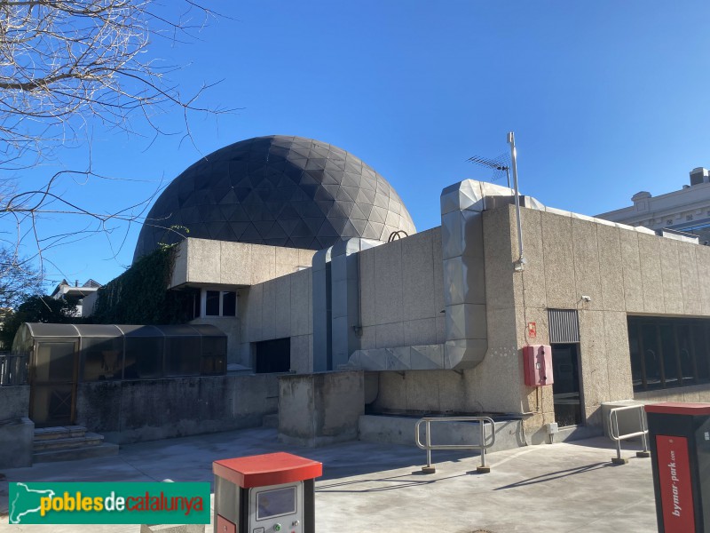
[[[348,442],[286,447],[273,429],[251,429],[122,446],[116,457],[5,470],[6,481],[212,481],[216,459],[286,450],[323,462],[316,483],[319,533],[656,531],[651,460],[611,465],[611,442],[591,439],[477,457],[434,452],[437,473],[422,474],[416,448]],[[1,452],[1,451],[0,451]],[[21,526],[7,523],[0,482],[0,531],[137,533],[138,526]],[[211,533],[211,526],[207,531]]]

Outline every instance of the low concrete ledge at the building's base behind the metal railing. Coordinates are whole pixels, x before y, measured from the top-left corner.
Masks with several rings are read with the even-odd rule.
[[[419,418],[363,415],[359,418],[359,440],[382,444],[414,444],[414,426]],[[478,424],[474,422],[439,422],[432,425],[432,444],[477,444]],[[495,444],[486,451],[500,451],[525,446],[520,420],[495,423]],[[423,439],[423,434],[422,434]]]

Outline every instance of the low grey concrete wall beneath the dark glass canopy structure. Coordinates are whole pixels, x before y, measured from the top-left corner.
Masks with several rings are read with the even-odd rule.
[[[76,423],[121,444],[261,426],[277,409],[270,374],[103,381],[78,385]]]

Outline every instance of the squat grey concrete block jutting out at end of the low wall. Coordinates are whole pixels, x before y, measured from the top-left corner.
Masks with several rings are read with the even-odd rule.
[[[365,414],[362,371],[279,377],[279,438],[299,446],[323,446],[358,438]]]

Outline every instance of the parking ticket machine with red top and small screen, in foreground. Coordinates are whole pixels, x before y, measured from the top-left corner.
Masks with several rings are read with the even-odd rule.
[[[215,461],[212,473],[215,533],[314,533],[318,461],[269,453]]]

